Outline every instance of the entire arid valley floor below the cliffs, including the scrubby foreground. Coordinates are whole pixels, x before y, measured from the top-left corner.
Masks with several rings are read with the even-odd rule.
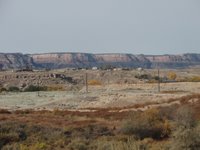
[[[158,84],[156,69],[0,72],[0,149],[181,149],[180,118],[199,124],[199,75],[160,69]]]

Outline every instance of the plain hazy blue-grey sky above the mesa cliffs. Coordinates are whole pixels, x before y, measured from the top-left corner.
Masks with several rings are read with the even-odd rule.
[[[200,1],[0,0],[0,52],[200,53]]]

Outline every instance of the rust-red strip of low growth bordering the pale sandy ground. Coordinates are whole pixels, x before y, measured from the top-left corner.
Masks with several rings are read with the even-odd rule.
[[[191,103],[192,99],[196,99],[195,103]],[[198,100],[198,101],[197,101]],[[189,104],[196,110],[196,116],[200,118],[200,94],[193,94],[176,99],[169,99],[167,103],[179,101],[181,105]],[[82,126],[89,124],[107,124],[112,125],[112,121],[121,121],[128,117],[129,111],[120,112],[123,109],[144,108],[150,105],[157,104],[158,107],[162,106],[160,103],[143,103],[123,108],[105,108],[105,109],[89,109],[89,112],[80,111],[33,111],[33,110],[18,110],[10,112],[8,110],[0,110],[1,120],[13,120],[25,123],[35,123],[40,125],[62,127],[66,125]],[[6,115],[6,117],[5,117]],[[119,123],[118,122],[118,123]],[[117,125],[117,124],[116,124]]]

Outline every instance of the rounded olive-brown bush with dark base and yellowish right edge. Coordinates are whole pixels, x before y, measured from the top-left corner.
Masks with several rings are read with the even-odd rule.
[[[125,121],[121,131],[124,134],[135,135],[139,139],[163,139],[170,136],[171,127],[158,109],[151,109],[131,116],[128,121]]]

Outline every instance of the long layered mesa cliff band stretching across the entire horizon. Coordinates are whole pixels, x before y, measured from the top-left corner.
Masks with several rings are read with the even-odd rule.
[[[182,55],[132,55],[132,54],[89,54],[89,53],[46,53],[23,55],[0,53],[0,69],[20,69],[27,65],[34,68],[59,69],[66,67],[115,67],[186,68],[200,65],[200,54]]]

